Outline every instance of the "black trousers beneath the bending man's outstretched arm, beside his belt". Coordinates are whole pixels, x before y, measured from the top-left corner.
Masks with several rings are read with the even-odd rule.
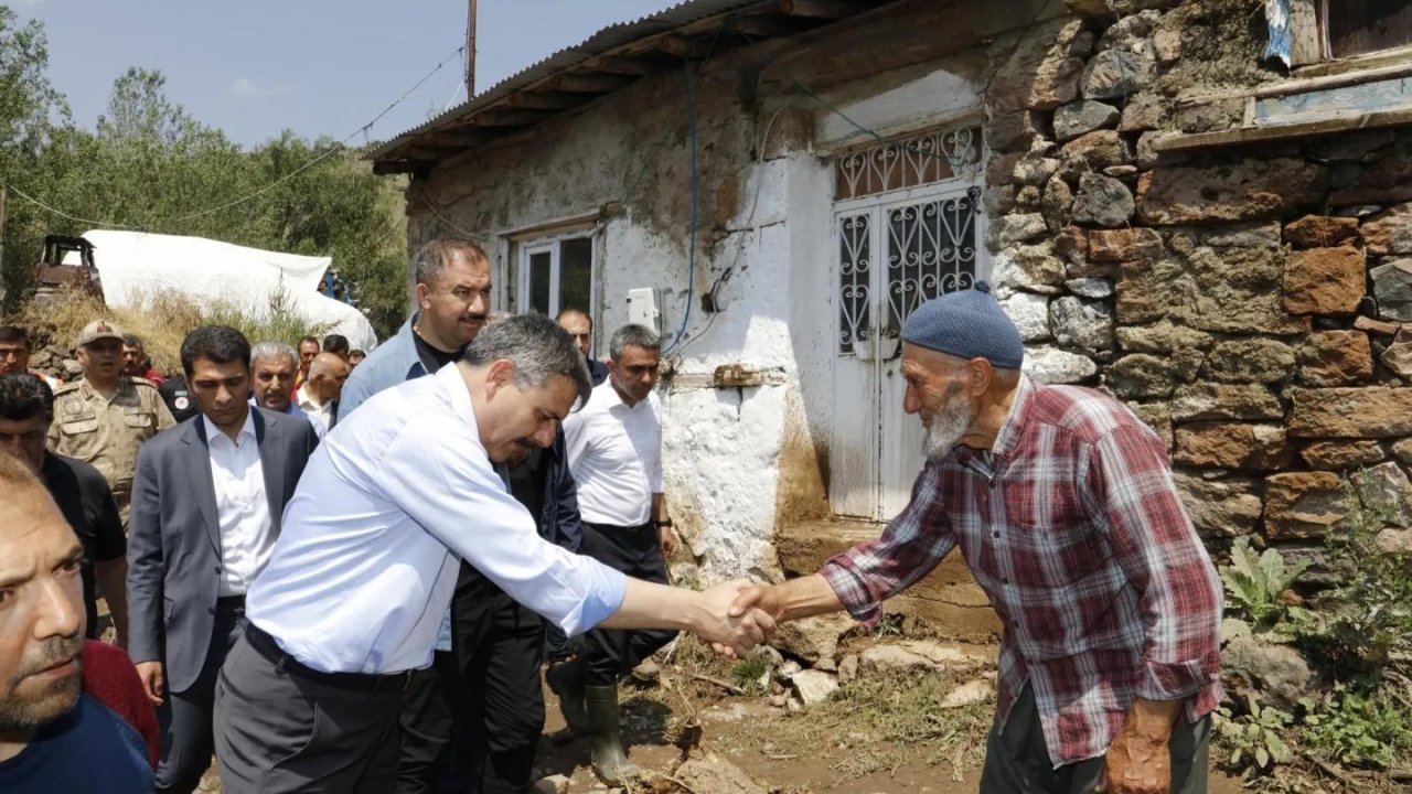
[[[412,682],[398,794],[503,794],[534,783],[544,733],[544,620],[462,565],[452,651]]]

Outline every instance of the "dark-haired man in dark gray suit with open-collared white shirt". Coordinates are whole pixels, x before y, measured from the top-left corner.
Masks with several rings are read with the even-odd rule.
[[[188,794],[210,764],[216,675],[244,629],[246,589],[318,437],[250,404],[239,331],[192,331],[181,360],[201,415],[138,454],[127,591],[128,647],[162,728],[157,791]]]

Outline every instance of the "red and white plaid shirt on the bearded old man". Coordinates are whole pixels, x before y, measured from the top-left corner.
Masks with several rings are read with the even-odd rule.
[[[1166,445],[1123,404],[1021,377],[993,451],[929,461],[882,537],[822,574],[875,622],[956,545],[1005,624],[997,725],[1029,681],[1056,769],[1106,753],[1134,698],[1216,706],[1220,579]]]

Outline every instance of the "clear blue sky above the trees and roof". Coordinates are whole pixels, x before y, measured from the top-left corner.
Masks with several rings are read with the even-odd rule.
[[[476,88],[675,0],[480,0]],[[343,138],[465,41],[465,0],[17,0],[44,21],[49,79],[92,127],[128,66],[167,75],[169,99],[247,146],[285,129]],[[466,99],[446,62],[370,137],[387,140]],[[354,138],[352,143],[361,143]]]

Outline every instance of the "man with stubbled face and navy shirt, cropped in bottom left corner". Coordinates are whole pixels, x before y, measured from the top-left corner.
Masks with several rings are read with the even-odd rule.
[[[0,493],[0,791],[147,794],[155,716],[127,654],[83,640],[83,547],[8,455]]]

